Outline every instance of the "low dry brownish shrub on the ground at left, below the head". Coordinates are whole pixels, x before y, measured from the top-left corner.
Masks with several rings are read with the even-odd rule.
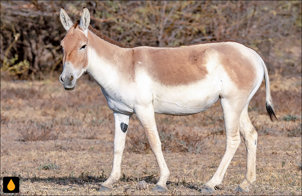
[[[59,130],[54,129],[53,125],[40,124],[35,121],[28,121],[27,124],[18,128],[20,132],[19,140],[25,141],[46,141],[46,140],[56,140],[59,137]]]

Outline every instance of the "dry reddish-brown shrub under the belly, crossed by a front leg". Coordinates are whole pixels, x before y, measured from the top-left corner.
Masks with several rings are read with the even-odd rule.
[[[202,151],[204,139],[210,136],[202,137],[197,134],[180,134],[178,131],[175,131],[175,129],[169,129],[165,126],[158,127],[158,133],[162,143],[162,150],[173,153],[200,153]],[[151,150],[145,134],[141,136],[129,136],[129,142],[131,145],[129,147],[130,152],[147,153]]]

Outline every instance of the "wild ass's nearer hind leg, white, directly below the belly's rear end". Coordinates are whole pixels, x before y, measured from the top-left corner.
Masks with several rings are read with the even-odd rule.
[[[240,144],[239,118],[243,104],[239,104],[239,102],[240,101],[234,101],[232,99],[221,99],[226,130],[226,150],[215,174],[204,184],[201,190],[202,193],[213,193],[214,187],[221,184],[226,169]]]

